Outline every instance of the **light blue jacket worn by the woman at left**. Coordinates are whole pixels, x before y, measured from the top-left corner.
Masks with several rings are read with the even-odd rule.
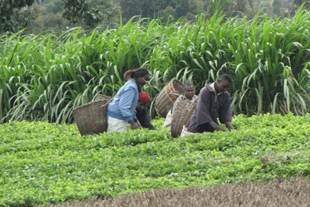
[[[121,87],[113,101],[107,106],[107,116],[125,121],[136,119],[135,110],[138,104],[138,86],[133,79]]]

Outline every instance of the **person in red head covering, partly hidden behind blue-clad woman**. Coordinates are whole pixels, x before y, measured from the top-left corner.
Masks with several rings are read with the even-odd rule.
[[[136,106],[136,118],[143,128],[156,130],[151,124],[151,119],[149,119],[149,111],[147,110],[147,103],[149,103],[149,101],[150,98],[147,92],[139,92],[138,105]]]

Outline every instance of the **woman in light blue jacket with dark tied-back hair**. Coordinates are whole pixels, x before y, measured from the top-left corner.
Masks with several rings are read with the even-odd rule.
[[[128,70],[124,74],[127,80],[107,106],[107,132],[127,131],[141,128],[136,119],[138,93],[141,86],[149,81],[149,72],[145,68]]]

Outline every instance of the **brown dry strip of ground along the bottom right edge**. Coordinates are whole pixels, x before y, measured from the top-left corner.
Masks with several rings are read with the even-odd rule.
[[[210,188],[158,189],[114,199],[67,201],[52,206],[310,206],[310,179],[293,177],[289,180],[223,184]]]

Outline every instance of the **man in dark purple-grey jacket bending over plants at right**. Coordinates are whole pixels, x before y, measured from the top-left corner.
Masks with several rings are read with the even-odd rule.
[[[200,90],[197,105],[189,122],[188,128],[183,128],[181,137],[193,133],[225,131],[225,124],[230,130],[234,130],[231,124],[231,101],[227,90],[231,87],[231,77],[221,75],[215,83],[209,83]]]

